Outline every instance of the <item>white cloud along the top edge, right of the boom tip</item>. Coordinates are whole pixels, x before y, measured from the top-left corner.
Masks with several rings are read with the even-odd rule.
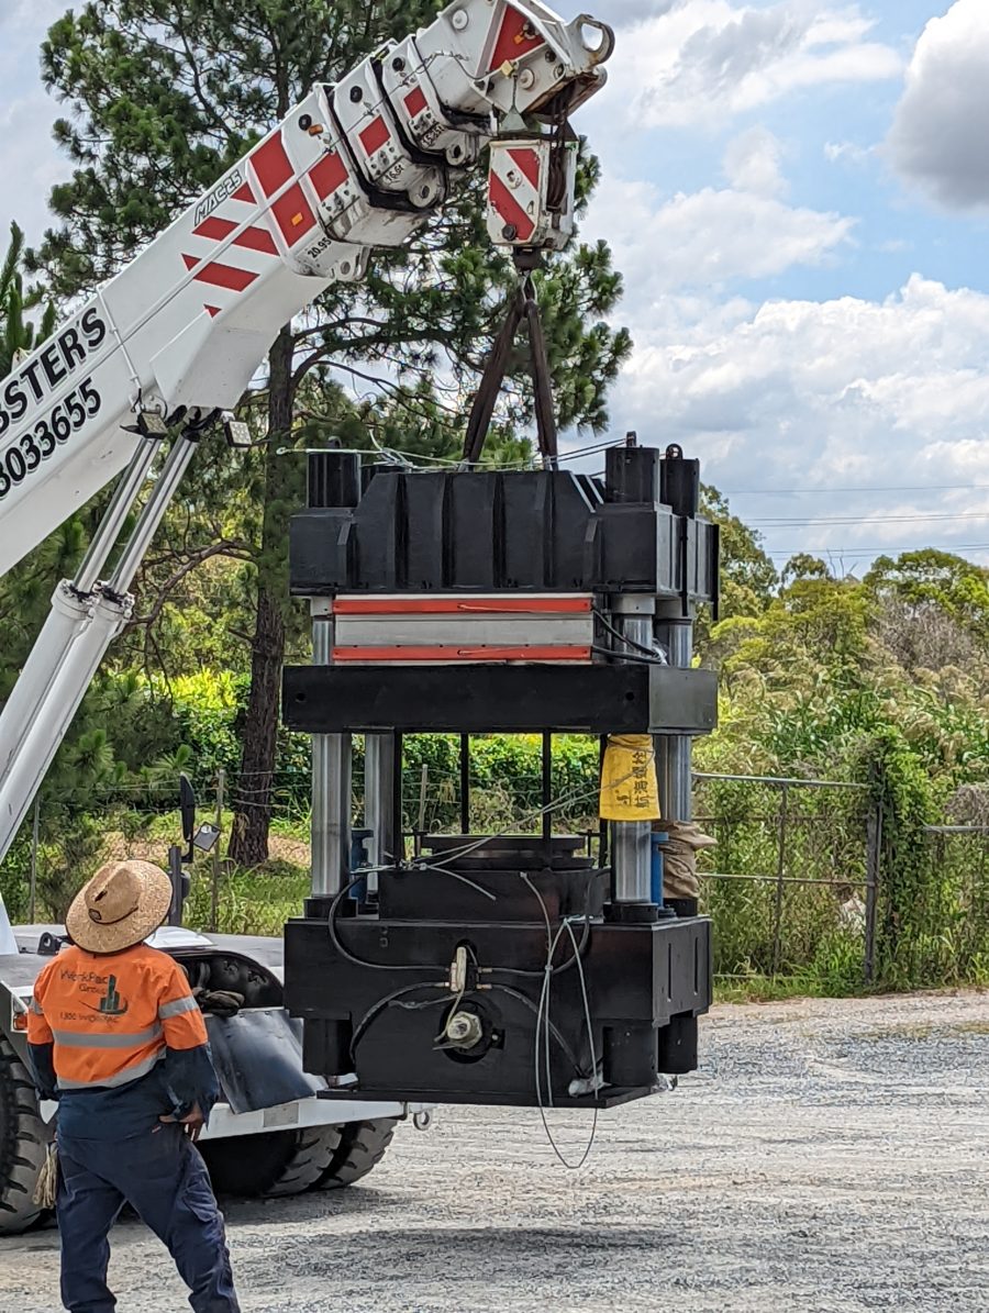
[[[872,28],[858,5],[682,0],[620,32],[612,76],[630,122],[720,126],[801,88],[898,76]]]

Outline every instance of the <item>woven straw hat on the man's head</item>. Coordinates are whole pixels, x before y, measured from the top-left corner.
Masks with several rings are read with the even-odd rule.
[[[87,953],[120,953],[152,935],[168,915],[172,882],[150,861],[112,861],[75,897],[66,916]]]

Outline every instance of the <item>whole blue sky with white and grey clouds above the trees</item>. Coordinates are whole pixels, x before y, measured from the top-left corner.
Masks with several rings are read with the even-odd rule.
[[[989,3],[584,3],[617,34],[575,121],[634,339],[612,433],[699,457],[779,566],[989,565]],[[67,173],[37,59],[64,9],[0,0],[0,223],[29,238]]]

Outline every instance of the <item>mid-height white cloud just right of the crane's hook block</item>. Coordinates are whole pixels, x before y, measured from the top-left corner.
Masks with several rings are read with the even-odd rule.
[[[738,180],[746,172],[739,151]],[[768,167],[749,156],[750,181],[767,184]],[[760,175],[751,177],[751,175]],[[781,180],[772,179],[779,186]],[[650,183],[607,180],[595,197],[584,238],[604,238],[625,276],[623,312],[654,312],[655,303],[686,288],[711,290],[745,278],[818,265],[851,238],[855,221],[795,209],[774,196],[704,188],[663,201]]]

